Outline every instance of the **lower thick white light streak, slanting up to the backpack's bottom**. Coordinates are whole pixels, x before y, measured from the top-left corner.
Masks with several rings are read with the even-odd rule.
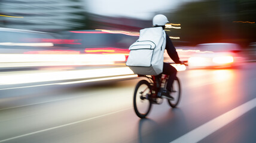
[[[0,74],[0,85],[19,83],[50,82],[57,80],[91,79],[108,76],[125,76],[134,74],[129,67],[106,69],[72,70],[72,71],[42,71],[39,73],[6,73]]]

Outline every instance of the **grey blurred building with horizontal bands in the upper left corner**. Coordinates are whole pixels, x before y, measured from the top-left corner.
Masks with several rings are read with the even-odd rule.
[[[0,0],[0,27],[58,32],[83,26],[84,1]]]

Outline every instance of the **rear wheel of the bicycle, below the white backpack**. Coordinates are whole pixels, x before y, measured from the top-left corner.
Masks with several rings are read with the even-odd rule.
[[[140,118],[145,118],[148,115],[148,113],[150,113],[150,87],[150,83],[147,80],[141,80],[138,82],[135,88],[133,96],[133,107],[136,115]]]

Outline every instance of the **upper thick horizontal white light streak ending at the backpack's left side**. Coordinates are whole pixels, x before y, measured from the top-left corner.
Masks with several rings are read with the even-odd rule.
[[[124,54],[0,54],[0,67],[109,65]]]

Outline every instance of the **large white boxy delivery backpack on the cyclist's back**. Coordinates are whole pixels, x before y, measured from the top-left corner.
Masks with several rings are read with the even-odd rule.
[[[158,75],[163,72],[166,33],[162,27],[141,29],[139,39],[130,45],[126,66],[135,74]]]

